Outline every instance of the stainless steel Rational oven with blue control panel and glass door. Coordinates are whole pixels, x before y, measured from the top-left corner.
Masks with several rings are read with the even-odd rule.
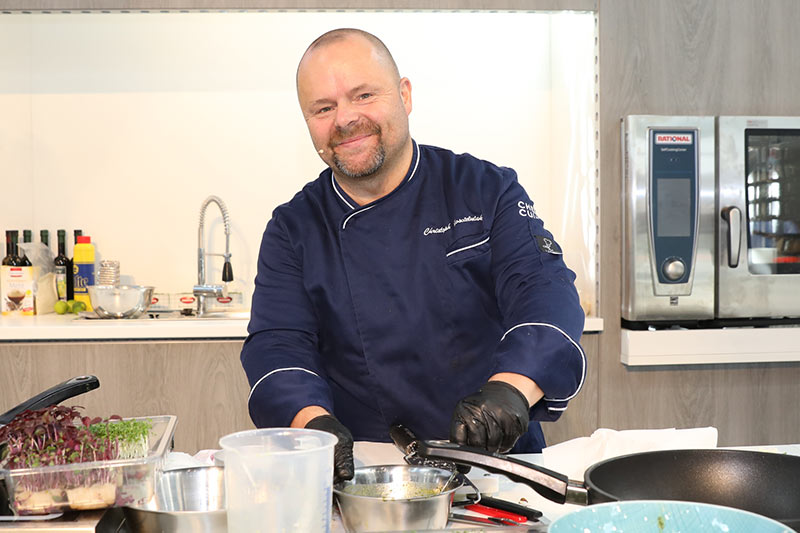
[[[626,327],[800,322],[800,118],[622,121]]]

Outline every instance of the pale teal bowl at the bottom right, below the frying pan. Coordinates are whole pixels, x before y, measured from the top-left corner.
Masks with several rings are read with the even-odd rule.
[[[549,533],[794,533],[748,511],[705,503],[666,500],[590,505],[562,516]]]

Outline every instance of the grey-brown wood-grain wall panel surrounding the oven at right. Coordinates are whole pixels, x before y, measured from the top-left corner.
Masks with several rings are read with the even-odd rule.
[[[600,0],[600,426],[713,425],[720,444],[800,442],[800,365],[620,363],[620,138],[628,114],[800,115],[800,2]]]

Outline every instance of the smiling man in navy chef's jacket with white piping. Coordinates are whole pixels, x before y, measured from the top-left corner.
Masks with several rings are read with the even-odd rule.
[[[580,389],[584,315],[574,274],[515,173],[418,145],[411,83],[353,29],[314,41],[297,69],[328,165],[267,225],[242,364],[258,427],[356,440],[392,423],[421,438],[534,452],[538,422]]]

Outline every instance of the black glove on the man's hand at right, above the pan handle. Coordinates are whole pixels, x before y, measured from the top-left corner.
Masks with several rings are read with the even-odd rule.
[[[530,406],[516,387],[489,381],[456,405],[450,441],[505,453],[528,431]]]

